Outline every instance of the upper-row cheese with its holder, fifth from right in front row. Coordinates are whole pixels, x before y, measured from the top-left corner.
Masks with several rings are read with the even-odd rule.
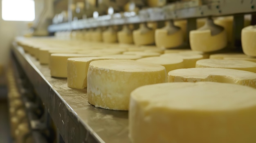
[[[123,29],[117,33],[117,38],[120,44],[133,44],[132,30],[128,25],[124,25]]]

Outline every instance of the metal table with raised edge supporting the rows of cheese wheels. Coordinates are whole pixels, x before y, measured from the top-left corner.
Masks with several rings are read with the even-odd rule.
[[[47,65],[40,65],[16,44],[12,53],[65,142],[130,143],[127,111],[91,106],[87,100],[86,89],[68,88],[67,79],[51,77]]]

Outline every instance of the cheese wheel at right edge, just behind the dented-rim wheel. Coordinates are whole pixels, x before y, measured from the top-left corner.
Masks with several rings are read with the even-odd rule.
[[[196,68],[230,68],[256,73],[256,63],[244,60],[201,59],[196,62]]]

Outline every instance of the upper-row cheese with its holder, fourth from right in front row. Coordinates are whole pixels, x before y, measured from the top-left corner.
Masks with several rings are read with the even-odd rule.
[[[155,43],[155,30],[146,26],[146,23],[139,25],[139,29],[132,32],[135,45],[149,45]]]

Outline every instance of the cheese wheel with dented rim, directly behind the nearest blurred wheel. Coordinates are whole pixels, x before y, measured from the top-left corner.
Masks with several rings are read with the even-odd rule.
[[[227,68],[183,68],[168,73],[168,82],[213,81],[256,88],[256,73]]]

